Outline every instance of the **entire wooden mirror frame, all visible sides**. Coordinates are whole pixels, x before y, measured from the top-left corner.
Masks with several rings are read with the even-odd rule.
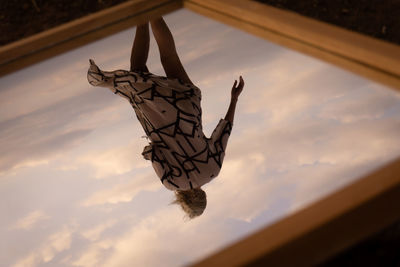
[[[400,46],[249,0],[132,0],[0,47],[0,76],[188,8],[400,91]],[[400,219],[400,158],[193,266],[310,266]]]

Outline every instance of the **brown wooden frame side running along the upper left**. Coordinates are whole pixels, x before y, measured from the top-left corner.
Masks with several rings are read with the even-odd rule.
[[[133,0],[0,47],[0,77],[183,7],[181,0]]]

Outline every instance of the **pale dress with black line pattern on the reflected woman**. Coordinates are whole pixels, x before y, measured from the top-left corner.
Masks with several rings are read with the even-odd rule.
[[[232,125],[221,119],[205,137],[199,88],[150,72],[102,71],[90,63],[89,83],[108,87],[132,105],[150,140],[142,155],[166,188],[199,188],[218,175]]]

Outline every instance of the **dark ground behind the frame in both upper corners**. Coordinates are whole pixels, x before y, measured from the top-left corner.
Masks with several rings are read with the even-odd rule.
[[[0,0],[0,46],[127,0]],[[400,0],[256,0],[400,44]]]

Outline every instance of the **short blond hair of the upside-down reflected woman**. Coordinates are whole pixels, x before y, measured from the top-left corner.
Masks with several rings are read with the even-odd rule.
[[[175,191],[176,199],[172,204],[181,205],[186,215],[193,219],[200,216],[207,206],[207,195],[201,188]]]

